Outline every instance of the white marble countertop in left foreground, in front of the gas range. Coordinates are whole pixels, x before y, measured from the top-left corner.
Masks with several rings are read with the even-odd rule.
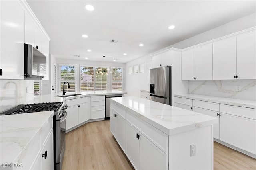
[[[42,127],[53,115],[54,111],[44,111],[0,116],[0,164],[23,163],[24,155],[32,152],[31,145],[41,145]]]

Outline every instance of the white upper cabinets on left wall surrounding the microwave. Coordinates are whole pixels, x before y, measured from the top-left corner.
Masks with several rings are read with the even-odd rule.
[[[0,79],[24,79],[24,43],[38,45],[47,57],[49,70],[49,40],[26,1],[0,1]],[[48,76],[47,76],[48,79]]]

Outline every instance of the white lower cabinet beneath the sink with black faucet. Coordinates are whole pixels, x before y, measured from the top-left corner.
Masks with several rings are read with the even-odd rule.
[[[66,131],[90,119],[89,97],[66,100],[68,117]]]

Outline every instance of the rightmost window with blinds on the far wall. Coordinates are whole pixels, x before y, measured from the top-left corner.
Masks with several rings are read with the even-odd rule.
[[[112,90],[122,90],[122,68],[111,68]]]

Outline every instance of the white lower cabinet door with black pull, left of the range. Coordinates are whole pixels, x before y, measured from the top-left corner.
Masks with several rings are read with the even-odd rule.
[[[52,170],[53,169],[53,130],[50,131],[42,150],[39,152],[32,170]]]

